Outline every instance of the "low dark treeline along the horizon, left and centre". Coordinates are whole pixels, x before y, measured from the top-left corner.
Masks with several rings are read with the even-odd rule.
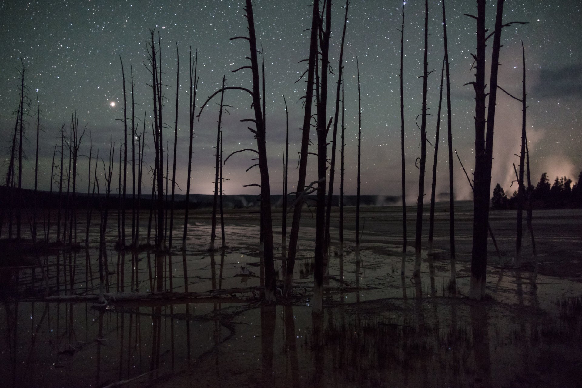
[[[8,208],[10,206],[8,198],[10,198],[10,188],[6,186],[0,186],[0,208]],[[17,189],[13,188],[14,195],[17,195]],[[86,193],[77,193],[77,209],[87,209],[92,207],[93,209],[99,209],[99,197],[97,194],[94,198],[87,197]],[[23,204],[26,208],[33,208],[34,205],[34,190],[22,190]],[[204,209],[212,208],[213,201],[212,194],[190,194],[190,209]],[[292,204],[295,195],[289,194],[288,204]],[[16,197],[15,197],[16,198]],[[72,202],[72,196],[67,198],[66,194],[63,193],[61,197],[62,207],[68,207],[68,202]],[[283,195],[271,195],[271,203],[274,207],[280,208],[282,205]],[[38,191],[37,197],[37,207],[39,209],[51,209],[58,208],[59,204],[59,193],[49,193],[48,191]],[[109,209],[117,209],[120,205],[120,197],[118,194],[111,194],[107,203],[105,202],[105,194],[101,194],[101,204],[103,207]],[[309,195],[307,202],[310,205],[315,205],[315,195]],[[360,205],[396,205],[400,201],[400,196],[398,195],[360,195]],[[131,209],[132,201],[126,200],[126,209]],[[258,208],[260,207],[258,196],[249,194],[239,194],[239,195],[223,195],[224,207],[227,209],[244,209],[244,208]],[[346,206],[356,205],[356,195],[345,195],[344,204]],[[149,194],[142,194],[140,208],[150,209],[151,207],[151,196]],[[339,206],[339,195],[333,195],[332,206]],[[166,202],[166,208],[170,208],[171,203]],[[186,208],[186,195],[175,195],[174,198],[174,209],[184,209]]]

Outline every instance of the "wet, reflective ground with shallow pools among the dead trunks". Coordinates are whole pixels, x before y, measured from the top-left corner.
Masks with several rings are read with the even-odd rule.
[[[357,261],[350,243],[354,209],[349,208],[343,260],[338,247],[332,248],[323,316],[311,314],[315,233],[308,212],[294,297],[280,298],[277,305],[258,301],[258,213],[247,210],[226,214],[228,248],[216,252],[206,250],[207,212],[197,212],[191,221],[185,254],[177,227],[171,268],[168,257],[114,250],[116,232],[108,235],[105,292],[155,289],[155,269],[150,274],[148,268],[164,259],[165,290],[228,290],[205,299],[109,301],[100,308],[95,301],[38,301],[47,281],[53,296],[99,293],[96,230],[91,230],[87,250],[42,252],[38,260],[46,277],[34,265],[36,257],[24,254],[0,270],[5,296],[0,307],[2,386],[579,386],[582,211],[534,212],[541,260],[537,287],[531,283],[529,234],[524,234],[524,265],[513,269],[514,212],[491,212],[502,258],[490,244],[488,297],[482,302],[465,297],[472,209],[460,203],[456,211],[459,262],[457,291],[452,293],[445,205],[437,207],[434,268],[423,252],[417,282],[411,277],[411,247],[406,276],[399,273],[400,209],[363,208]],[[181,224],[178,219],[176,225]],[[280,241],[280,225],[275,219],[275,241]],[[413,219],[408,227],[410,236]],[[333,241],[336,233],[332,229]],[[280,243],[275,245],[280,258]],[[276,268],[280,266],[278,260]]]

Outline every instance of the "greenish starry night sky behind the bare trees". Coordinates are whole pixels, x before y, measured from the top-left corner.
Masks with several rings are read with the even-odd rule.
[[[244,1],[239,0],[84,0],[0,2],[0,133],[2,158],[8,158],[10,133],[19,102],[17,86],[20,58],[27,66],[26,84],[30,97],[38,92],[41,107],[39,187],[48,190],[53,146],[59,130],[69,122],[76,110],[81,126],[93,136],[94,154],[97,148],[105,156],[109,137],[116,149],[123,137],[123,90],[119,55],[129,76],[133,66],[135,79],[136,125],[141,129],[144,111],[147,123],[152,119],[150,74],[145,69],[146,43],[149,29],[161,34],[162,69],[165,72],[164,121],[173,131],[176,101],[176,42],[179,46],[180,91],[178,116],[178,162],[176,180],[186,187],[188,108],[187,79],[189,47],[198,49],[197,106],[219,88],[226,74],[229,86],[251,85],[249,71],[232,73],[246,65],[248,45],[230,37],[246,34],[243,17]],[[254,0],[257,39],[264,48],[267,83],[267,150],[272,193],[282,190],[282,148],[285,147],[285,105],[289,105],[290,127],[290,191],[297,180],[297,151],[303,112],[297,103],[305,92],[303,82],[295,83],[306,69],[299,63],[308,56],[310,2],[307,0]],[[474,51],[475,23],[463,13],[475,13],[475,2],[448,0],[447,24],[452,88],[453,147],[466,167],[474,165],[474,92],[463,84],[474,80],[470,73]],[[333,4],[331,35],[330,99],[335,99],[339,43],[343,26],[342,1]],[[402,1],[352,0],[345,47],[346,88],[346,193],[356,192],[357,160],[357,81],[356,57],[360,63],[362,90],[362,193],[398,195],[400,193],[400,18]],[[434,143],[437,122],[440,69],[443,57],[442,8],[440,1],[429,1],[429,70],[428,138]],[[420,155],[420,131],[414,118],[421,112],[423,62],[424,1],[409,0],[404,5],[404,105],[406,115],[407,192],[414,201],[418,170],[414,160]],[[582,2],[579,0],[508,0],[505,22],[520,20],[526,25],[503,29],[499,84],[514,95],[521,95],[521,44],[526,47],[528,116],[527,130],[532,163],[532,179],[539,180],[547,172],[569,176],[574,181],[582,169]],[[495,4],[488,1],[489,29],[494,27]],[[129,83],[128,83],[129,87]],[[128,95],[128,99],[130,96]],[[211,194],[214,181],[214,145],[218,119],[215,98],[205,108],[194,127],[192,193]],[[114,104],[112,104],[112,102]],[[240,148],[254,147],[254,139],[240,119],[251,117],[250,99],[241,92],[225,95],[225,104],[232,105],[230,115],[223,117],[223,148],[225,155]],[[329,114],[332,113],[329,107]],[[198,110],[198,109],[197,109]],[[36,114],[35,108],[30,112]],[[130,108],[128,107],[128,115]],[[28,141],[24,152],[25,187],[33,186],[36,118],[28,119]],[[446,129],[446,116],[441,128]],[[496,114],[492,187],[499,182],[509,188],[513,176],[512,163],[519,163],[521,104],[498,94]],[[165,138],[170,139],[170,129]],[[311,134],[315,143],[315,134]],[[448,191],[446,137],[441,132],[437,193]],[[79,151],[79,190],[87,187],[88,132]],[[148,126],[147,140],[152,144]],[[313,148],[314,149],[314,148]],[[427,154],[427,184],[430,185],[434,149]],[[93,154],[93,155],[94,155]],[[153,145],[145,149],[145,163],[153,165]],[[118,156],[116,156],[116,159]],[[250,154],[237,154],[226,163],[225,194],[257,193],[258,169],[245,172],[254,162]],[[313,158],[313,159],[311,159]],[[310,176],[315,180],[315,157],[310,156]],[[148,167],[146,166],[146,170]],[[457,199],[469,199],[470,187],[455,158],[455,190]],[[6,164],[3,166],[6,168]],[[100,166],[100,170],[102,170]],[[117,166],[115,166],[117,171]],[[101,182],[103,181],[101,177]],[[338,179],[336,179],[338,181]],[[116,187],[116,178],[113,179]],[[145,186],[150,177],[144,176]],[[427,186],[430,187],[430,186]],[[116,190],[116,188],[114,189]],[[147,190],[146,190],[147,192]],[[337,192],[337,191],[336,191]],[[177,193],[184,193],[177,189]]]

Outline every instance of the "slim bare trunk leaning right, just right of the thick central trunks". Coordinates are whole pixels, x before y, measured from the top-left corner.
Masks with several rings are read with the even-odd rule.
[[[335,178],[335,149],[336,149],[336,140],[338,138],[338,119],[339,119],[339,91],[340,91],[340,84],[343,76],[343,44],[346,39],[346,27],[347,27],[347,10],[350,6],[350,0],[346,0],[346,13],[343,17],[343,31],[342,31],[342,42],[340,43],[339,49],[339,65],[338,65],[338,81],[337,87],[335,92],[335,113],[333,114],[333,133],[332,133],[332,140],[331,140],[331,165],[329,168],[329,186],[328,186],[328,204],[327,204],[327,211],[325,213],[325,254],[329,259],[329,245],[331,244],[331,235],[329,233],[329,228],[331,224],[331,207],[332,207],[332,199],[333,199],[333,180]],[[327,267],[327,262],[325,266]]]

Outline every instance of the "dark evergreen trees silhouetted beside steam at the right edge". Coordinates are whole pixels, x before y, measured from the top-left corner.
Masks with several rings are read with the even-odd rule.
[[[581,182],[582,172],[574,185],[572,185],[572,179],[565,176],[556,176],[551,184],[548,174],[543,173],[536,186],[530,185],[527,188],[525,203],[530,203],[534,209],[580,208],[582,207]],[[508,198],[503,187],[498,183],[493,190],[491,208],[514,209],[517,208],[517,200],[517,190]]]

